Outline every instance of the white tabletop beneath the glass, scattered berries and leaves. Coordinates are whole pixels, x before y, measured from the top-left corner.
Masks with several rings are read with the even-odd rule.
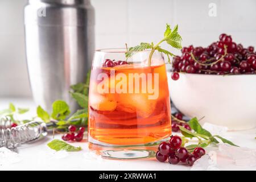
[[[36,105],[31,99],[22,98],[0,98],[0,110],[6,109],[9,102],[19,107],[30,107],[30,113],[24,117],[35,115]],[[256,129],[236,132],[226,132],[226,137],[241,147],[256,149]],[[55,136],[60,138],[60,135]],[[81,146],[79,152],[55,152],[48,148],[47,143],[52,139],[46,138],[27,146],[18,148],[20,161],[17,163],[6,163],[0,165],[0,170],[190,170],[191,167],[183,164],[171,165],[168,163],[151,160],[108,160],[88,151],[86,142],[72,143]],[[207,152],[218,150],[217,147],[207,147]],[[226,157],[218,157],[218,167],[221,170],[256,170],[256,167],[241,167]]]

